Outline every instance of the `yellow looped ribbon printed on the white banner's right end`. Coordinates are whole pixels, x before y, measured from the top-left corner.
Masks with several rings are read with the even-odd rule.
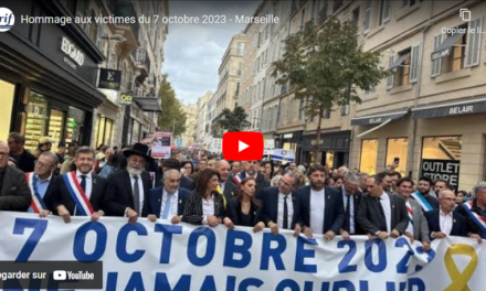
[[[465,255],[471,257],[469,263],[463,272],[459,272],[457,266],[455,265],[452,255]],[[452,283],[444,289],[444,291],[471,291],[467,282],[473,276],[477,267],[477,255],[476,250],[464,244],[457,244],[451,246],[444,256],[445,269],[447,270],[448,277],[451,277]]]

